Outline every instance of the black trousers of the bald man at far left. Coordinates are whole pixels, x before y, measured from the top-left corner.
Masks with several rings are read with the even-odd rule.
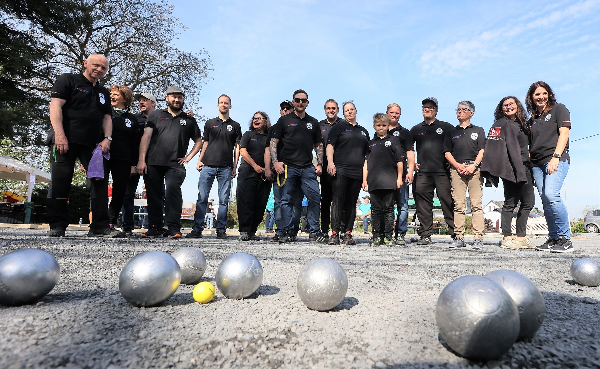
[[[50,188],[46,199],[46,214],[50,228],[69,226],[68,198],[71,194],[71,183],[77,158],[81,161],[83,168],[88,170],[89,161],[96,145],[69,144],[69,150],[62,155],[50,148]],[[104,159],[106,170],[107,160]],[[91,204],[94,222],[90,228],[106,228],[109,226],[109,176],[105,175],[102,180],[91,180]]]

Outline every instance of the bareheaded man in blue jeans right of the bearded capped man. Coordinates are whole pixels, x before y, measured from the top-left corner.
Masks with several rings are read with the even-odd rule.
[[[239,143],[242,140],[242,127],[229,117],[231,98],[221,95],[218,99],[219,116],[206,121],[204,145],[198,158],[200,171],[198,201],[194,214],[193,230],[186,238],[202,237],[206,204],[212,184],[217,179],[219,187],[219,207],[217,211],[217,238],[227,240],[227,211],[232,179],[236,176],[239,160]]]

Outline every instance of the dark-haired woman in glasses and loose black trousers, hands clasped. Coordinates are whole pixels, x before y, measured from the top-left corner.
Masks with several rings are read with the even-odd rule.
[[[242,136],[239,153],[242,164],[238,174],[239,240],[259,241],[256,230],[265,216],[266,203],[273,186],[265,177],[265,146],[271,120],[257,111],[250,121],[250,131]]]

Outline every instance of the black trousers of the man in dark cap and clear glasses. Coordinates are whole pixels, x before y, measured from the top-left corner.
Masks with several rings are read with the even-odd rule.
[[[454,237],[454,201],[452,201],[452,185],[450,177],[442,176],[423,176],[416,174],[413,181],[413,196],[415,196],[416,216],[421,222],[419,226],[419,235],[433,235],[433,192],[436,190],[437,198],[442,204],[442,212],[446,223],[448,223],[448,232]]]

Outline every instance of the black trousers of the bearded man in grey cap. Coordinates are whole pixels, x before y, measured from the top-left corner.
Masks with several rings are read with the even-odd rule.
[[[178,167],[148,165],[144,182],[148,195],[148,219],[151,226],[166,225],[169,230],[181,229],[181,211],[184,206],[181,185],[184,183],[185,176],[183,165]]]

